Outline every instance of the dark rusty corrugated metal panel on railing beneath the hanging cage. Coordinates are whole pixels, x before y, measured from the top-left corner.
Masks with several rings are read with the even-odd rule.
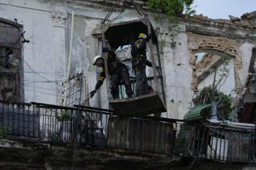
[[[107,145],[136,152],[172,153],[173,124],[139,118],[109,118]]]

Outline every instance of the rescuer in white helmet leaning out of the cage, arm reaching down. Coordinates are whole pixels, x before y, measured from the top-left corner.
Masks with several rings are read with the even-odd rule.
[[[108,73],[110,75],[111,94],[113,99],[119,99],[118,84],[120,84],[120,80],[124,82],[125,93],[127,94],[127,97],[131,98],[132,87],[127,66],[125,66],[125,64],[123,64],[122,62],[118,61],[115,52],[108,50],[108,48],[103,48],[102,52],[106,53]],[[90,92],[90,97],[93,97],[95,95],[95,93],[100,88],[106,78],[104,59],[102,58],[102,55],[97,55],[93,58],[93,66],[95,65],[101,67],[101,70],[98,82],[95,85],[95,89]]]

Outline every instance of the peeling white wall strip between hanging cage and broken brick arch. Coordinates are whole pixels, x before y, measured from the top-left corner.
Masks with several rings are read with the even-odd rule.
[[[183,119],[188,111],[192,97],[190,88],[191,67],[187,35],[184,25],[179,25],[179,32],[170,31],[168,27],[160,27],[161,57],[163,56],[163,77],[166,95],[167,113],[163,117]],[[173,45],[175,42],[175,45]]]

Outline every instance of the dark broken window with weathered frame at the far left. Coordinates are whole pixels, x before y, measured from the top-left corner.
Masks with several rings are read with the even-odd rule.
[[[24,74],[22,71],[22,39],[20,39],[19,31],[23,26],[4,18],[0,18],[0,25],[0,48],[2,48],[0,58],[0,81],[2,82],[0,83],[4,84],[3,81],[6,78],[9,79],[1,88],[1,99],[24,102],[24,83],[20,81],[24,79]],[[10,87],[10,80],[12,80],[13,87]]]

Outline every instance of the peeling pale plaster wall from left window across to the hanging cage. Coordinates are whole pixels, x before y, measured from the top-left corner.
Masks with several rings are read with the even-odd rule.
[[[23,44],[24,96],[27,103],[61,104],[70,46],[71,15],[67,17],[67,11],[71,13],[74,10],[75,13],[70,76],[84,72],[84,100],[88,99],[85,90],[92,90],[97,81],[92,59],[99,51],[98,39],[93,37],[92,31],[99,27],[107,12],[93,8],[85,10],[84,6],[75,3],[65,5],[64,8],[60,2],[40,0],[6,0],[0,3],[0,16],[12,21],[17,18],[19,24],[24,25],[25,38],[31,42]],[[97,98],[90,100],[90,104],[97,106]],[[103,105],[106,107],[106,102]]]

